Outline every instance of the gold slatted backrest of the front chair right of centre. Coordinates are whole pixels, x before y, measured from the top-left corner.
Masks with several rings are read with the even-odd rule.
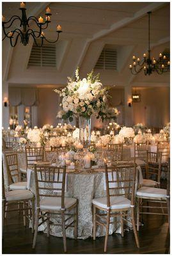
[[[106,165],[105,173],[107,207],[111,206],[111,196],[125,196],[134,204],[136,164],[126,164],[126,166],[118,166],[118,164],[116,164],[111,168],[107,168]]]

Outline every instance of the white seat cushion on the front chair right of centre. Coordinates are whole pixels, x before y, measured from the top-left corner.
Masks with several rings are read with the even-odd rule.
[[[94,198],[92,203],[104,209],[107,209],[107,198]],[[124,196],[111,196],[110,198],[111,209],[121,209],[130,207],[131,202]]]

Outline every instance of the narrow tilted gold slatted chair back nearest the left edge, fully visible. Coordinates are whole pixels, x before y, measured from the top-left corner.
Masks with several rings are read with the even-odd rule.
[[[9,184],[20,181],[17,153],[5,154]]]

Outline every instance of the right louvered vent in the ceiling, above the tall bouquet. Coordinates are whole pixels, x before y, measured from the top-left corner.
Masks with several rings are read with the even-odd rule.
[[[104,48],[95,65],[97,69],[114,69],[117,70],[117,51],[112,48]]]

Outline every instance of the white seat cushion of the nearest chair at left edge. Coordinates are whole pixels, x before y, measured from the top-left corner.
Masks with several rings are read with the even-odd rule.
[[[26,200],[33,198],[33,193],[27,189],[16,189],[5,193],[6,201]]]

